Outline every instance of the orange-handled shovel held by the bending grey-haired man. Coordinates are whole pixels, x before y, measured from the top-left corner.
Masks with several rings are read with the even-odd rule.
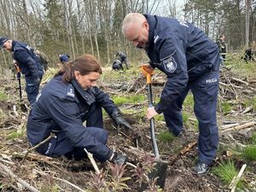
[[[153,107],[153,98],[152,98],[152,90],[151,90],[151,76],[154,74],[154,69],[142,66],[141,70],[143,74],[147,78],[147,84],[148,84],[148,104],[149,107]],[[157,147],[157,143],[155,140],[155,135],[154,135],[154,118],[150,119],[150,134],[151,134],[151,140],[152,140],[152,145],[154,149],[154,157],[156,160],[156,165],[155,169],[148,174],[149,178],[154,179],[157,177],[157,182],[156,184],[159,185],[162,189],[165,187],[165,181],[166,181],[166,169],[167,169],[167,164],[160,160],[160,154],[159,154],[159,149]],[[142,186],[142,188],[147,189],[147,186]],[[143,191],[142,189],[141,191]]]

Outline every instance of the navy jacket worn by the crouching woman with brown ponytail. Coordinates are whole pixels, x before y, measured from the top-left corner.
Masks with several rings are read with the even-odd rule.
[[[49,137],[51,131],[64,131],[76,148],[90,148],[108,160],[112,151],[91,137],[83,125],[90,105],[99,102],[109,115],[118,108],[109,96],[97,87],[83,90],[73,80],[61,81],[61,75],[51,79],[38,95],[27,120],[27,137],[32,146]]]

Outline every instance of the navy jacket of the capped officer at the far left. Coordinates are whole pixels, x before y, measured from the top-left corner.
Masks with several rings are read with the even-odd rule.
[[[43,68],[33,49],[27,44],[13,41],[12,52],[15,61],[19,64],[21,73],[25,76],[32,75],[33,79],[37,80],[39,78],[38,71],[43,71]]]

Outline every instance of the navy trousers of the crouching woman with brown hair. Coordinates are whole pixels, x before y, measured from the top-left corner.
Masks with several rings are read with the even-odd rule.
[[[108,132],[103,129],[102,107],[93,104],[89,113],[86,115],[86,127],[88,134],[95,137],[99,143],[106,144],[108,142]],[[84,148],[76,148],[73,143],[66,137],[63,131],[55,132],[55,138],[46,143],[44,147],[38,148],[40,154],[47,156],[65,155],[67,158],[81,160],[87,157]],[[97,160],[102,160],[100,156],[93,154]]]

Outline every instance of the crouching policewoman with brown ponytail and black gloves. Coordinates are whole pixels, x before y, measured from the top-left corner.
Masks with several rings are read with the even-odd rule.
[[[86,148],[97,160],[125,163],[125,155],[106,146],[108,132],[103,129],[102,108],[117,125],[130,129],[131,125],[122,118],[109,96],[96,87],[101,73],[92,55],[81,55],[67,62],[44,86],[29,114],[27,137],[32,146],[44,141],[51,132],[55,137],[37,148],[38,153],[80,160],[86,156]]]

